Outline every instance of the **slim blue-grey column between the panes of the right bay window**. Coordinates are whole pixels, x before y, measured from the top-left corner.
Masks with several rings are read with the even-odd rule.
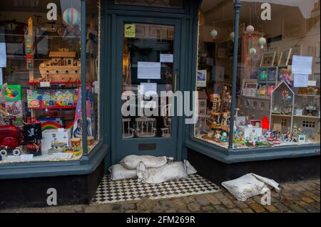
[[[233,79],[232,79],[232,100],[230,104],[230,135],[228,147],[233,148],[234,137],[234,120],[235,120],[235,105],[236,105],[236,83],[238,78],[238,26],[240,22],[240,0],[234,1],[235,10],[235,25],[234,25],[234,53],[233,53]]]

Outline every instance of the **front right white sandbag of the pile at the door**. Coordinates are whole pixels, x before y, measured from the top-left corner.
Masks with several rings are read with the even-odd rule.
[[[165,181],[188,178],[188,173],[183,162],[173,162],[165,164],[160,168],[147,169],[143,162],[137,166],[138,182],[147,184],[159,184]]]

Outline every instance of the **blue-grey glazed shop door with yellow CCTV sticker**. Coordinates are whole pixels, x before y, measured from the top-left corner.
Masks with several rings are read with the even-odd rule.
[[[118,17],[116,21],[112,162],[115,164],[130,154],[180,157],[178,117],[166,115],[170,106],[161,103],[162,91],[179,90],[180,20]],[[146,97],[139,100],[139,94],[148,92],[157,93],[158,98],[153,97],[153,102]],[[130,103],[136,107],[128,107]],[[142,113],[143,105],[149,105],[149,110],[158,115]],[[127,112],[124,116],[122,108],[134,109],[135,115],[128,116]]]

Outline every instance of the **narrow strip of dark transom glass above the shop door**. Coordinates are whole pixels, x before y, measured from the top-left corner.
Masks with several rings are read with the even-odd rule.
[[[183,8],[183,0],[115,0],[115,4],[153,6],[165,8]]]

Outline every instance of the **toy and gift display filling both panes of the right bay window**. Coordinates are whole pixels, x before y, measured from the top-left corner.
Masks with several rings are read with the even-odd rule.
[[[195,137],[228,148],[233,134],[235,149],[320,143],[320,1],[271,1],[270,21],[260,3],[241,4],[233,133],[224,107],[233,99],[233,3],[200,7],[198,70],[207,82],[197,90],[208,98]]]

